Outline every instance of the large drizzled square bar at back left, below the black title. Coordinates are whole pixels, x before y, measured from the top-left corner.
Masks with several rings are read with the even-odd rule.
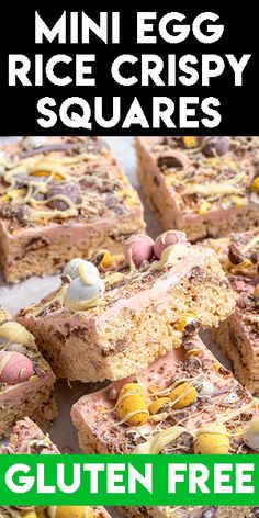
[[[0,268],[8,282],[56,273],[143,232],[136,191],[103,140],[25,137],[0,148]]]

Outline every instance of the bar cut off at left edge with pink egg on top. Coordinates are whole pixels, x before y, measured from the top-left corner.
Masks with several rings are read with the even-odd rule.
[[[34,337],[0,307],[0,438],[24,416],[43,428],[56,417],[54,382]]]

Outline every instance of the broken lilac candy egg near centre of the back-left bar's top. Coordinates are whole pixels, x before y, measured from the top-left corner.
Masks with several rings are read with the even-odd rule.
[[[47,193],[47,200],[50,200],[54,196],[65,196],[68,198],[76,205],[81,203],[81,192],[80,188],[76,182],[64,182],[60,181],[57,184],[52,184]],[[66,211],[68,209],[68,203],[65,200],[52,200],[47,203],[49,209],[56,209],[58,211]]]

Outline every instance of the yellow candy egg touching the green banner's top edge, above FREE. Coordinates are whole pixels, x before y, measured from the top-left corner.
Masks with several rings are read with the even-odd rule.
[[[226,427],[221,423],[209,423],[196,431],[194,453],[227,454],[229,451],[229,437]]]

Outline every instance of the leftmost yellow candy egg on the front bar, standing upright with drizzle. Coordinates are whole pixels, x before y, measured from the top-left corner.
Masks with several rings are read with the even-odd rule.
[[[145,425],[149,413],[144,388],[139,383],[126,383],[119,393],[116,410],[121,421],[128,425]]]

